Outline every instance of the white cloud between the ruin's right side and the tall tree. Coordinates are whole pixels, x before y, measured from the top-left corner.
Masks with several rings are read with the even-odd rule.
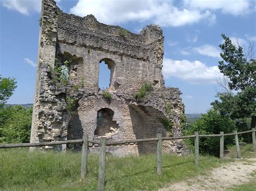
[[[223,76],[218,66],[208,67],[197,60],[190,62],[164,58],[163,65],[163,74],[166,79],[174,76],[191,84],[216,83],[216,80]]]

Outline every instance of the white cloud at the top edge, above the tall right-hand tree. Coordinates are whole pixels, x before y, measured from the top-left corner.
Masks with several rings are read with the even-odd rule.
[[[187,8],[221,10],[223,13],[235,16],[248,12],[250,4],[250,0],[184,0],[184,5]]]

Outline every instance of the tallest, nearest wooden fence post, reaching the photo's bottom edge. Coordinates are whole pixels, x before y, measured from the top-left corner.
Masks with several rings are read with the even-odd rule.
[[[106,137],[99,139],[99,176],[98,190],[104,190],[105,185],[105,158],[106,158]]]

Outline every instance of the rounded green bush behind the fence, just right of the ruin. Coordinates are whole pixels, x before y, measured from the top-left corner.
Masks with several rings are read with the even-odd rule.
[[[224,133],[232,133],[235,130],[235,124],[229,116],[221,116],[217,110],[210,109],[206,114],[202,114],[193,124],[184,130],[185,135],[194,135],[195,131],[199,135],[205,134],[219,134],[220,131]],[[193,139],[185,139],[185,142],[191,148],[194,147]],[[200,137],[199,138],[199,152],[204,154],[219,155],[219,137]],[[234,143],[233,136],[225,137],[224,149],[228,145]]]

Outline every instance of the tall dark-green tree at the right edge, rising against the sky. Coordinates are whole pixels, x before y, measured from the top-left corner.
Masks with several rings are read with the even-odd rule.
[[[230,38],[221,35],[225,40],[224,44],[219,45],[222,61],[219,61],[220,72],[228,77],[228,88],[231,91],[218,93],[220,101],[215,100],[211,103],[221,115],[230,115],[232,119],[251,118],[251,128],[255,127],[256,120],[256,60],[248,60],[241,46],[236,47]],[[232,93],[236,90],[237,94]]]

